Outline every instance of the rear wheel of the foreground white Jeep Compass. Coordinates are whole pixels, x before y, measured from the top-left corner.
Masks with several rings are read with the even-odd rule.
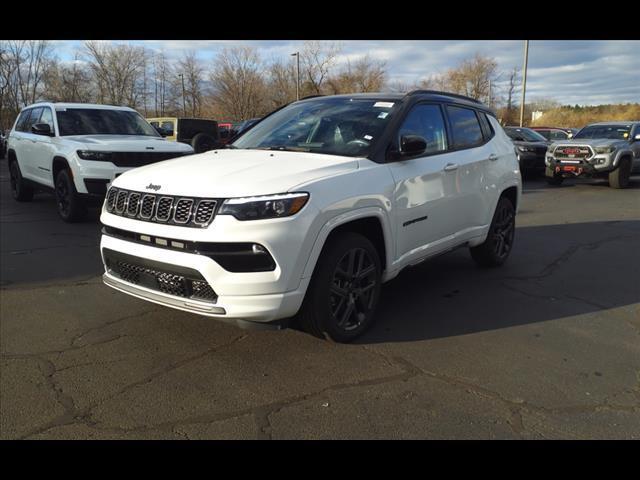
[[[481,267],[499,267],[511,250],[516,229],[516,212],[507,197],[500,197],[484,243],[471,247],[471,257]]]

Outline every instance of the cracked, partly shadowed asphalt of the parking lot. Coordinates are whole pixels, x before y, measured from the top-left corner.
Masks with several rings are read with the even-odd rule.
[[[383,288],[356,344],[245,331],[103,286],[99,222],[0,167],[0,438],[640,438],[640,177],[525,182],[505,266]]]

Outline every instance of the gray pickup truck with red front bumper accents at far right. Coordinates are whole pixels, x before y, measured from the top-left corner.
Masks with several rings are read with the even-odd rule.
[[[565,178],[608,178],[613,188],[626,188],[640,167],[640,121],[587,125],[570,140],[549,145],[545,175],[551,185]]]

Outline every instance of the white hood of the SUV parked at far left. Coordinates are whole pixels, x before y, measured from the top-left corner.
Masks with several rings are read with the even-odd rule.
[[[145,135],[70,135],[65,141],[78,143],[80,148],[108,152],[191,152],[193,149],[185,144],[170,142],[162,137]],[[153,147],[153,149],[149,148]]]

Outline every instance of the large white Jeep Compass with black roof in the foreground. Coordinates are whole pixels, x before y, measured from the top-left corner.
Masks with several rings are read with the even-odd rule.
[[[104,282],[239,325],[296,317],[346,342],[383,282],[469,246],[513,246],[521,177],[493,113],[431,91],[303,99],[230,148],[118,177],[101,221]]]

